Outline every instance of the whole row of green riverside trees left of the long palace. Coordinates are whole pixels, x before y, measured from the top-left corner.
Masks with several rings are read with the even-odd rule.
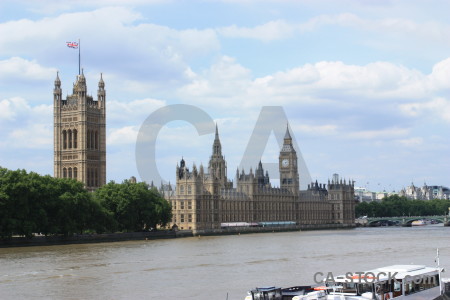
[[[113,181],[88,192],[74,179],[0,167],[0,239],[137,232],[165,226],[170,204],[145,183]]]

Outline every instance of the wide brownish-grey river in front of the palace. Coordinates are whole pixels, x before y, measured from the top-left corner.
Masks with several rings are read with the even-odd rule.
[[[450,270],[450,228],[357,228],[0,249],[0,299],[244,299],[392,264]],[[450,274],[444,273],[444,277]]]

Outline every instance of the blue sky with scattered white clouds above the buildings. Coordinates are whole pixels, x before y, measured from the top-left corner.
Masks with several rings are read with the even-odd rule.
[[[71,94],[78,51],[66,42],[80,39],[88,93],[105,81],[108,181],[141,179],[141,126],[185,104],[217,123],[230,179],[276,106],[314,181],[449,186],[448,11],[434,0],[2,0],[0,166],[53,175],[54,80]],[[186,120],[155,141],[172,183],[182,157],[207,166],[212,151],[214,131]],[[279,150],[272,134],[260,159],[277,163]]]

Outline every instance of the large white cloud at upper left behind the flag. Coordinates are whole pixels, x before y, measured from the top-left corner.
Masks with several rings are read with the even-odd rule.
[[[121,80],[164,81],[167,85],[185,80],[189,60],[219,49],[212,29],[177,30],[142,18],[131,8],[104,7],[0,23],[0,55],[66,66],[75,64],[77,53],[65,42],[80,38],[82,65],[109,74],[120,70],[117,77]]]

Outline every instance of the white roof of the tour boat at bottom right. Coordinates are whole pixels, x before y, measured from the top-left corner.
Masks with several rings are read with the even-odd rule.
[[[394,275],[395,279],[405,279],[406,277],[426,276],[438,274],[438,268],[427,267],[424,265],[392,265],[387,267],[381,267],[369,271],[363,272],[363,274],[352,273],[353,276],[347,277],[346,275],[340,275],[334,277],[335,282],[348,282],[349,279],[353,279],[354,282],[358,282],[361,279],[362,282],[374,282],[384,281]],[[360,273],[360,272],[358,272]],[[366,281],[364,281],[366,279]]]

